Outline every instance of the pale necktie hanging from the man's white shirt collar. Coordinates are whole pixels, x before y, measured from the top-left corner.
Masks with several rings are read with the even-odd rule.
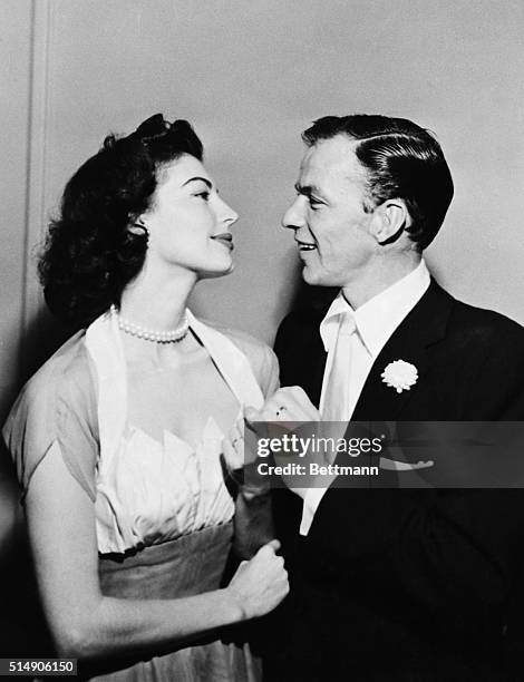
[[[323,421],[349,420],[351,337],[356,329],[352,314],[349,311],[340,313],[333,354],[331,359],[328,357],[331,369],[322,396]]]

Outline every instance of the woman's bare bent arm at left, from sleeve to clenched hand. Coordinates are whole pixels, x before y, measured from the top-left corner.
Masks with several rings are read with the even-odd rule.
[[[176,600],[104,596],[98,583],[94,505],[55,446],[32,476],[26,512],[43,607],[61,655],[154,651],[263,615],[288,593],[275,544],[243,563],[223,590]]]

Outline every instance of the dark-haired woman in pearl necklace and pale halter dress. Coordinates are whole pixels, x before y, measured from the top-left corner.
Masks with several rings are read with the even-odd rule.
[[[288,592],[266,490],[233,489],[223,467],[275,360],[186,309],[198,280],[232,270],[236,220],[191,126],[156,115],[106,138],[50,227],[47,303],[87,329],[25,387],[4,438],[51,633],[85,676],[255,679],[248,645],[217,629]],[[252,558],[224,586],[233,542]]]

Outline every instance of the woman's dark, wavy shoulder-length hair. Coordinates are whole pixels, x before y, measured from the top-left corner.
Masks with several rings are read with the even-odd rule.
[[[87,325],[140,271],[147,232],[129,231],[152,204],[162,166],[183,154],[202,160],[186,120],[152,116],[127,137],[109,135],[67,183],[38,265],[46,302],[66,323]]]

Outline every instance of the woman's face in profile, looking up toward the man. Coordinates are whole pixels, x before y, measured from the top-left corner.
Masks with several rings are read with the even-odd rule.
[[[239,216],[203,164],[184,154],[159,168],[157,182],[152,206],[140,216],[149,233],[145,266],[178,267],[197,277],[231,272],[230,227]]]

